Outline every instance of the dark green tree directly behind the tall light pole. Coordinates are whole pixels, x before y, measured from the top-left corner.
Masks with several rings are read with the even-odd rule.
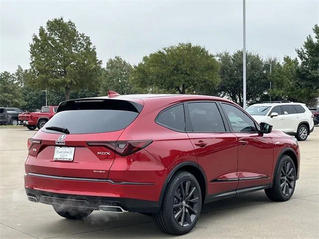
[[[217,56],[220,62],[220,96],[229,97],[243,106],[243,51],[237,50],[233,54],[222,52]],[[258,54],[247,52],[246,63],[247,102],[264,100],[269,89],[264,61]]]

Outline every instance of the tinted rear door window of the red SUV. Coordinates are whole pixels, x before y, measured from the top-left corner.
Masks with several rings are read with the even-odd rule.
[[[186,118],[186,131],[223,132],[225,126],[216,103],[200,102],[187,104],[189,117]]]

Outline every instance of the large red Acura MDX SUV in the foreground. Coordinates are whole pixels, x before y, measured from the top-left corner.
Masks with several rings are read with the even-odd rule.
[[[297,139],[231,101],[195,95],[65,101],[28,150],[30,201],[68,219],[153,214],[174,235],[194,228],[204,203],[262,189],[289,200],[300,168]]]

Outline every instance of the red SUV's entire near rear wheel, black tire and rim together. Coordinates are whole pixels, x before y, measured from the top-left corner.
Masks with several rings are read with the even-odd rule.
[[[160,212],[155,214],[160,230],[172,235],[189,233],[197,223],[201,203],[196,178],[186,171],[177,172],[167,184]]]

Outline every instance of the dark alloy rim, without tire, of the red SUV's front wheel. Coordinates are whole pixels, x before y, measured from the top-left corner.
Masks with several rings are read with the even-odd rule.
[[[294,167],[286,161],[281,168],[280,188],[284,195],[289,196],[295,187]]]

